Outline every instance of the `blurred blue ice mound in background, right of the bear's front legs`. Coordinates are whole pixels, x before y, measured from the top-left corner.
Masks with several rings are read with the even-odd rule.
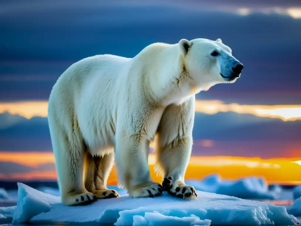
[[[218,174],[212,174],[203,180],[185,180],[185,183],[194,186],[196,190],[242,199],[276,199],[281,193],[279,186],[269,190],[262,177],[245,177],[232,181],[222,180]]]

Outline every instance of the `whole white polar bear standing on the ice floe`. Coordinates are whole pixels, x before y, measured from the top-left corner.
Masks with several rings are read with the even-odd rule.
[[[154,43],[133,58],[95,55],[58,78],[48,122],[62,202],[85,205],[118,197],[107,189],[114,159],[119,185],[131,197],[196,197],[184,183],[191,155],[195,94],[233,83],[243,64],[231,49],[209,39]],[[148,166],[154,142],[156,171]]]

